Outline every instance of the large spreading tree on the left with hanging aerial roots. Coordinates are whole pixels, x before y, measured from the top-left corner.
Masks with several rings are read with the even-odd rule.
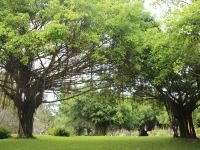
[[[116,48],[116,33],[127,37],[133,31],[130,23],[144,19],[139,3],[125,1],[0,3],[0,87],[17,108],[19,137],[32,137],[33,115],[45,90],[69,92],[90,71],[91,56],[100,60],[106,45],[109,52],[122,51]]]

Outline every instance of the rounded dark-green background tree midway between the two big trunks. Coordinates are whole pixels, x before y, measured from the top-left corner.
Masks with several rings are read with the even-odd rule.
[[[105,96],[105,93],[101,94],[77,98],[70,111],[73,114],[73,121],[80,120],[82,127],[87,127],[83,126],[84,122],[85,125],[93,124],[95,135],[107,134],[109,126],[114,124],[114,116],[117,112],[115,99],[112,96]]]

